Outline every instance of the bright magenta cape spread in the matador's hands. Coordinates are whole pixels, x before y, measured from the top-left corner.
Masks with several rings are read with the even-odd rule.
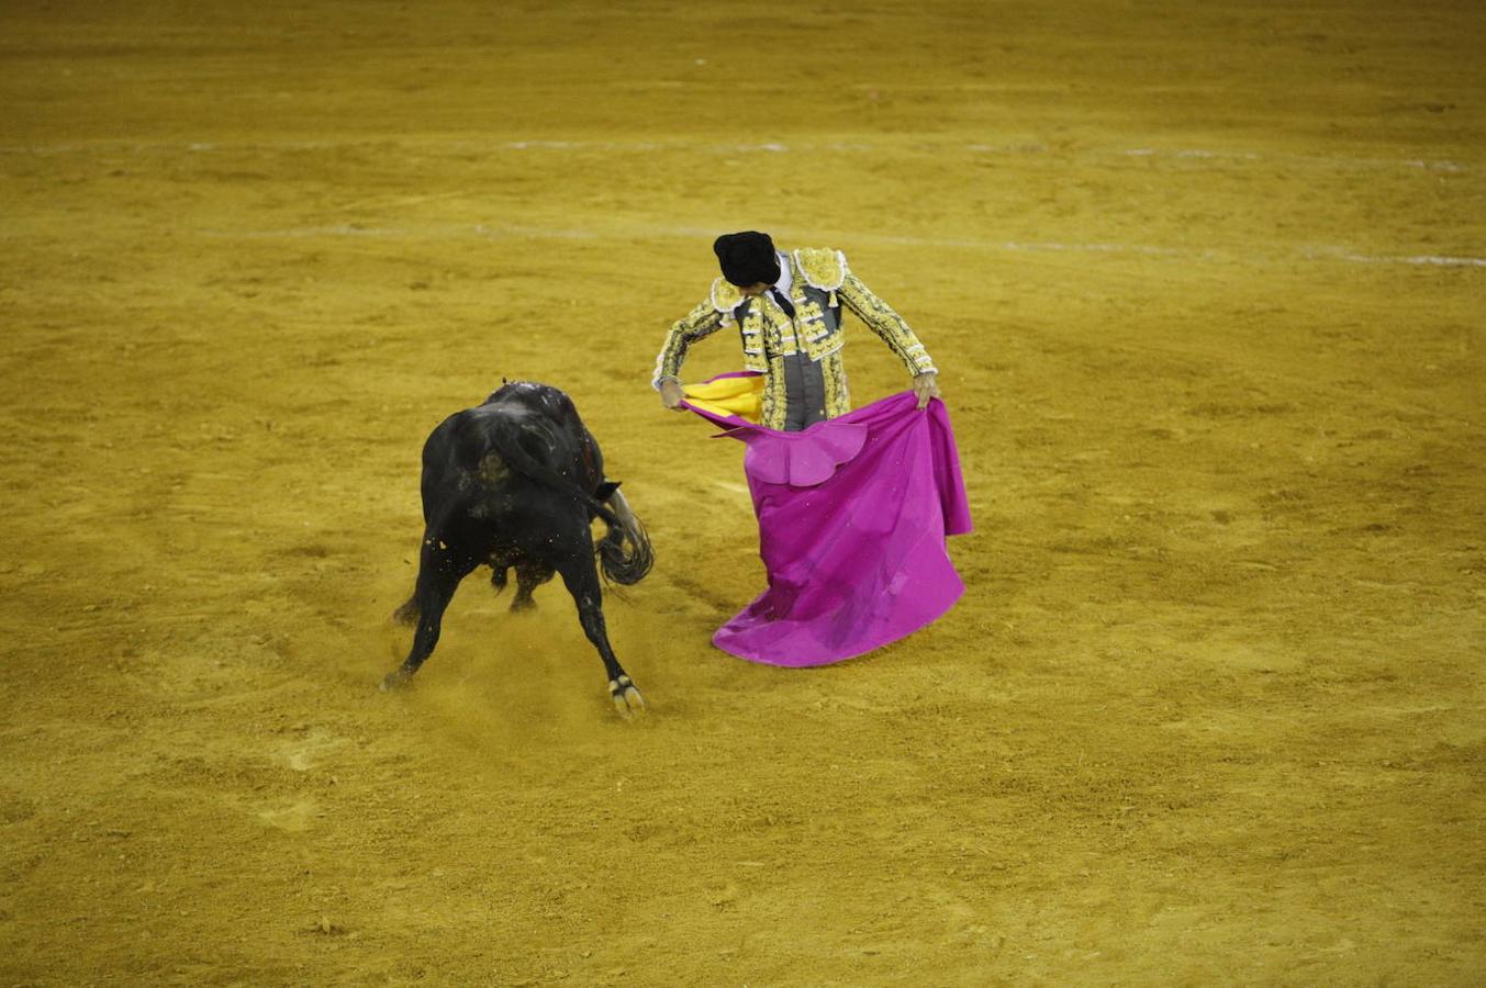
[[[770,666],[825,666],[912,634],[964,593],[945,535],[970,530],[938,398],[883,398],[802,432],[685,403],[747,444],[768,590],[712,643]]]

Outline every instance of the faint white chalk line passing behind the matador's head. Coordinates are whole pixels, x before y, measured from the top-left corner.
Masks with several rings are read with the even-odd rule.
[[[410,230],[406,227],[386,226],[306,226],[276,230],[198,230],[201,236],[211,239],[305,239],[319,236],[361,236],[382,239],[412,239],[412,238],[452,238],[477,236],[481,239],[550,239],[550,241],[603,241],[603,239],[635,239],[645,236],[666,236],[682,239],[710,239],[715,230],[709,227],[627,227],[627,229],[583,229],[583,227],[544,227],[544,226],[489,226],[476,223],[444,224]],[[779,230],[789,236],[788,230]],[[1192,250],[1180,247],[1153,247],[1146,244],[1064,244],[1057,241],[988,241],[975,238],[936,238],[936,236],[893,236],[881,233],[853,233],[847,238],[856,244],[884,244],[892,247],[929,247],[929,248],[964,248],[993,250],[1008,253],[1062,253],[1062,254],[1134,254],[1144,257],[1168,257],[1175,260],[1199,261],[1248,261],[1262,263],[1272,259],[1242,257],[1216,250]],[[1358,254],[1346,247],[1308,247],[1299,251],[1308,260],[1337,260],[1352,264],[1412,264],[1434,267],[1486,267],[1486,257],[1449,257],[1438,254]]]

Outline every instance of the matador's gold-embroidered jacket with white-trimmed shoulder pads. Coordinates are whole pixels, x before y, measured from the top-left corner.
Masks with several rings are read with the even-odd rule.
[[[743,367],[764,374],[764,409],[761,425],[783,428],[786,357],[801,355],[820,364],[825,380],[826,417],[834,419],[851,410],[846,370],[841,365],[841,305],[866,322],[898,355],[909,374],[935,370],[924,345],[903,318],[872,294],[846,266],[846,254],[834,250],[799,248],[789,254],[794,284],[789,300],[795,306],[791,319],[777,302],[762,296],[744,296],[724,278],[712,282],[712,294],[691,313],[678,319],[666,334],[666,345],[655,360],[651,386],[660,388],[666,377],[676,377],[687,351],[697,340],[737,324],[743,337]]]

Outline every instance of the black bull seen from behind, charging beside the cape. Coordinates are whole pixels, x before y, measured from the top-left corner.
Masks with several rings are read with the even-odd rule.
[[[603,660],[615,709],[624,716],[645,710],[609,646],[599,569],[632,585],[649,572],[654,553],[618,481],[605,478],[599,444],[566,394],[508,382],[478,407],[444,419],[424,444],[422,495],[418,584],[392,615],[418,630],[382,689],[407,683],[428,660],[459,582],[486,565],[496,591],[516,571],[511,611],[536,606],[532,591],[560,575]],[[597,542],[594,520],[608,526]]]

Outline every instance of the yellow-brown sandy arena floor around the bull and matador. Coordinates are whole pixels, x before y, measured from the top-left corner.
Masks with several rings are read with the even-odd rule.
[[[1474,0],[4,4],[0,984],[1482,984],[1483,51]],[[709,646],[740,447],[646,383],[747,227],[915,325],[975,508],[958,608],[831,669]],[[376,691],[419,447],[502,376],[655,539],[640,722],[559,587],[471,578]]]

